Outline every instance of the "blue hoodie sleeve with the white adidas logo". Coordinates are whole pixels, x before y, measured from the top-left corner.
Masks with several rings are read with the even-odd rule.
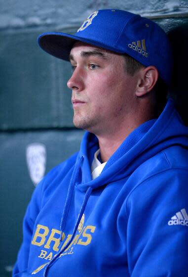
[[[131,277],[188,276],[187,180],[187,169],[169,169],[148,178],[129,195]]]

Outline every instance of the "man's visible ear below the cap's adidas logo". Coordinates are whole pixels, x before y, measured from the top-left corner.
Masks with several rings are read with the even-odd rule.
[[[143,96],[150,92],[158,79],[158,70],[155,66],[148,66],[139,72],[136,95]]]

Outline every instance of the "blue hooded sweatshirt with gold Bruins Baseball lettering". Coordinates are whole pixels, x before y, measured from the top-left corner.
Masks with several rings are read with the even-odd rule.
[[[14,277],[188,276],[188,128],[171,99],[91,177],[97,138],[37,186]]]

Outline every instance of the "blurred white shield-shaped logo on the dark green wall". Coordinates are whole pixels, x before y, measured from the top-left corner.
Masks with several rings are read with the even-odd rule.
[[[42,143],[31,143],[26,148],[26,160],[34,185],[37,185],[45,174],[46,147]]]

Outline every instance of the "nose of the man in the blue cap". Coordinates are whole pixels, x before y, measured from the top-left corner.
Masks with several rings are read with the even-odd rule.
[[[83,76],[81,70],[76,67],[71,78],[67,82],[67,86],[71,90],[82,91],[83,90]]]

